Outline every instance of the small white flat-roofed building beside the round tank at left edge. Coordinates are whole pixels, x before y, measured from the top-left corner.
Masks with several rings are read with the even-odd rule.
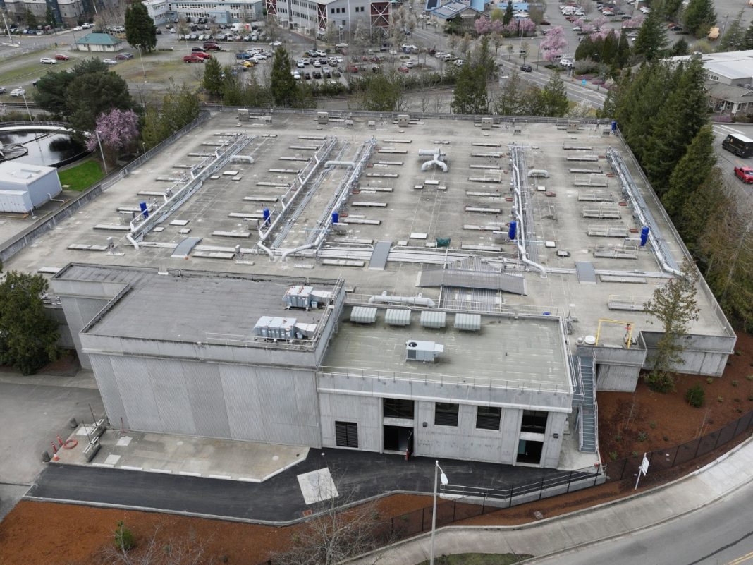
[[[0,212],[31,212],[60,191],[57,169],[52,166],[0,163]]]

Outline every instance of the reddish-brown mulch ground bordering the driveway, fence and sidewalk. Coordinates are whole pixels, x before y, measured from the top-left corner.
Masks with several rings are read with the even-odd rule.
[[[635,393],[600,392],[599,444],[602,457],[609,454],[628,457],[635,451],[643,453],[690,441],[713,432],[753,410],[753,337],[739,334],[736,349],[730,357],[724,377],[708,383],[706,377],[682,375],[677,391],[663,395],[651,392],[642,382]],[[706,391],[703,408],[692,408],[684,401],[685,391],[700,383]],[[645,433],[645,438],[641,434]],[[617,439],[617,436],[620,436]],[[649,472],[641,482],[645,490],[699,469],[733,445],[743,441],[739,436],[714,452],[682,466]],[[629,496],[633,479],[611,482],[556,496],[550,499],[514,506],[483,516],[469,518],[459,524],[516,525],[535,521],[534,512],[544,518],[566,514],[578,509]],[[377,503],[383,518],[399,517],[431,505],[431,496],[389,496]],[[400,518],[398,518],[399,520]],[[167,545],[175,539],[200,540],[206,543],[207,555],[226,563],[257,565],[265,563],[276,551],[283,550],[299,529],[265,527],[235,522],[184,518],[149,512],[96,509],[80,505],[49,502],[20,502],[0,524],[0,563],[3,565],[93,565],[105,545],[111,543],[118,521],[125,521],[144,541],[160,527],[160,540]],[[34,539],[29,543],[29,539]],[[227,560],[225,560],[227,558]]]

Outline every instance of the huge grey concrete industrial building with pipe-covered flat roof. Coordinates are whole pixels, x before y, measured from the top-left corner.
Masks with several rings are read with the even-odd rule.
[[[53,274],[113,426],[568,469],[687,257],[577,121],[225,111],[69,215],[6,264]],[[681,370],[719,376],[697,301]]]

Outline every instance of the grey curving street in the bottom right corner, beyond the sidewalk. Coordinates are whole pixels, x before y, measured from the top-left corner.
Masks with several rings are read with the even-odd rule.
[[[527,561],[530,565],[749,565],[753,563],[753,484],[704,509],[608,542]]]

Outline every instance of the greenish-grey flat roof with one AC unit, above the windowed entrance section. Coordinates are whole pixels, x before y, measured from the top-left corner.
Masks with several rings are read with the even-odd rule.
[[[453,313],[447,314],[445,328],[422,328],[419,312],[411,314],[410,326],[389,326],[385,310],[377,322],[340,322],[340,332],[332,340],[321,371],[346,369],[362,374],[390,377],[413,374],[447,377],[447,382],[475,383],[479,386],[523,386],[523,388],[569,391],[569,371],[559,320],[552,317],[482,316],[480,331],[453,328]],[[406,343],[429,341],[444,351],[435,362],[406,361]],[[489,344],[495,347],[489,347]]]

